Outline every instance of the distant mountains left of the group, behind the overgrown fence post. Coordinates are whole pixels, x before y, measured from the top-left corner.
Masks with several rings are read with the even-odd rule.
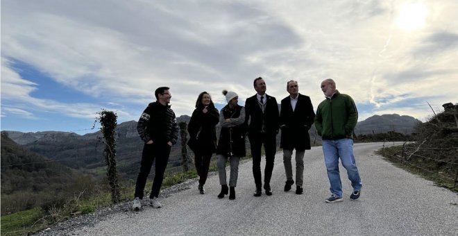
[[[178,117],[178,122],[189,122],[190,117]],[[6,131],[12,134],[17,142],[23,144],[25,149],[38,153],[51,160],[85,171],[91,174],[105,175],[105,158],[103,156],[103,135],[100,131],[77,135],[64,132],[23,133]],[[140,157],[142,155],[143,141],[137,133],[137,122],[126,121],[116,128],[117,161],[121,176],[135,178],[138,174]],[[181,140],[171,149],[169,167],[181,163]]]

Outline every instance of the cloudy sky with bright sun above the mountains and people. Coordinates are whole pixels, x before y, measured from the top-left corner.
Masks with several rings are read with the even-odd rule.
[[[458,102],[456,12],[456,0],[2,0],[1,130],[93,133],[96,112],[137,120],[164,85],[177,116],[202,91],[243,105],[258,76],[278,102],[295,79],[316,109],[334,78],[359,121],[425,121],[427,102]]]

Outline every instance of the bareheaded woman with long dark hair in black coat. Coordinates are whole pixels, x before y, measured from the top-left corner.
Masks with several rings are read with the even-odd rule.
[[[205,194],[205,181],[212,154],[217,150],[217,126],[219,112],[214,108],[212,97],[207,92],[201,92],[196,101],[196,110],[192,112],[191,120],[187,126],[189,133],[189,148],[194,151],[194,164],[196,165],[198,190]]]

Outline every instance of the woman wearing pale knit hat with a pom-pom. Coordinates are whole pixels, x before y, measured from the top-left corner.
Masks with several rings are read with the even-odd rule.
[[[222,199],[229,192],[229,199],[235,199],[235,187],[239,176],[239,160],[245,156],[245,108],[239,106],[239,96],[235,92],[223,90],[226,96],[226,105],[219,113],[221,133],[217,147],[217,165],[221,193],[218,198]],[[229,187],[226,182],[226,162],[230,158]],[[230,190],[230,191],[228,191]]]

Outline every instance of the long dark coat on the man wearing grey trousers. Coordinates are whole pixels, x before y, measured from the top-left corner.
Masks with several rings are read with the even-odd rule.
[[[280,128],[282,137],[280,148],[304,151],[310,149],[309,129],[315,118],[312,101],[309,96],[298,94],[296,109],[291,107],[291,96],[282,99]]]

